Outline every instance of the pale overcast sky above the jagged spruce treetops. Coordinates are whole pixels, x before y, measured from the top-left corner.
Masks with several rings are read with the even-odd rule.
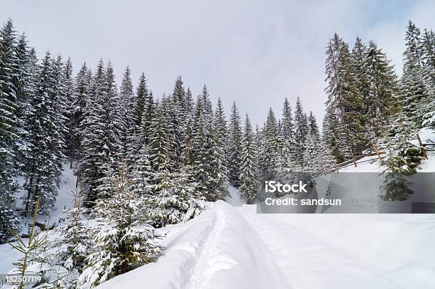
[[[302,3],[304,2],[304,3]],[[319,125],[326,101],[325,46],[337,32],[351,45],[374,40],[398,71],[411,19],[435,28],[435,1],[2,1],[0,20],[14,19],[38,56],[112,60],[118,80],[128,64],[134,85],[144,71],[155,96],[171,93],[177,75],[194,96],[208,85],[213,103],[262,124],[272,106],[300,97]]]

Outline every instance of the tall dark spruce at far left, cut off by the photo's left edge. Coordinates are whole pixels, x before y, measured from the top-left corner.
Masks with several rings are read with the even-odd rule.
[[[13,83],[16,77],[16,36],[9,19],[0,29],[0,243],[9,238],[9,228],[18,228],[15,209],[16,142],[18,140],[18,100]]]

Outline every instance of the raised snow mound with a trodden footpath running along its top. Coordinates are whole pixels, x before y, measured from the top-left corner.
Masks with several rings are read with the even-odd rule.
[[[171,241],[156,263],[98,288],[289,288],[257,233],[224,201],[168,238]]]

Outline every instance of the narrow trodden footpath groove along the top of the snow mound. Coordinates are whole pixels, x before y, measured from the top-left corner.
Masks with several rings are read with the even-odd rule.
[[[212,278],[214,273],[219,270],[219,268],[213,266],[213,258],[219,255],[217,246],[220,241],[220,234],[222,233],[223,228],[227,226],[226,220],[227,215],[225,211],[215,211],[215,221],[213,222],[212,229],[205,242],[198,250],[199,252],[195,257],[195,263],[190,271],[190,278],[184,288],[207,288],[210,278]]]

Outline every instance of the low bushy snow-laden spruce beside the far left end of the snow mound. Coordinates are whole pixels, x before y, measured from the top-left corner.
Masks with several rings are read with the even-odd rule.
[[[204,209],[203,198],[196,194],[196,183],[186,172],[156,173],[149,216],[156,227],[177,224],[198,216]]]

